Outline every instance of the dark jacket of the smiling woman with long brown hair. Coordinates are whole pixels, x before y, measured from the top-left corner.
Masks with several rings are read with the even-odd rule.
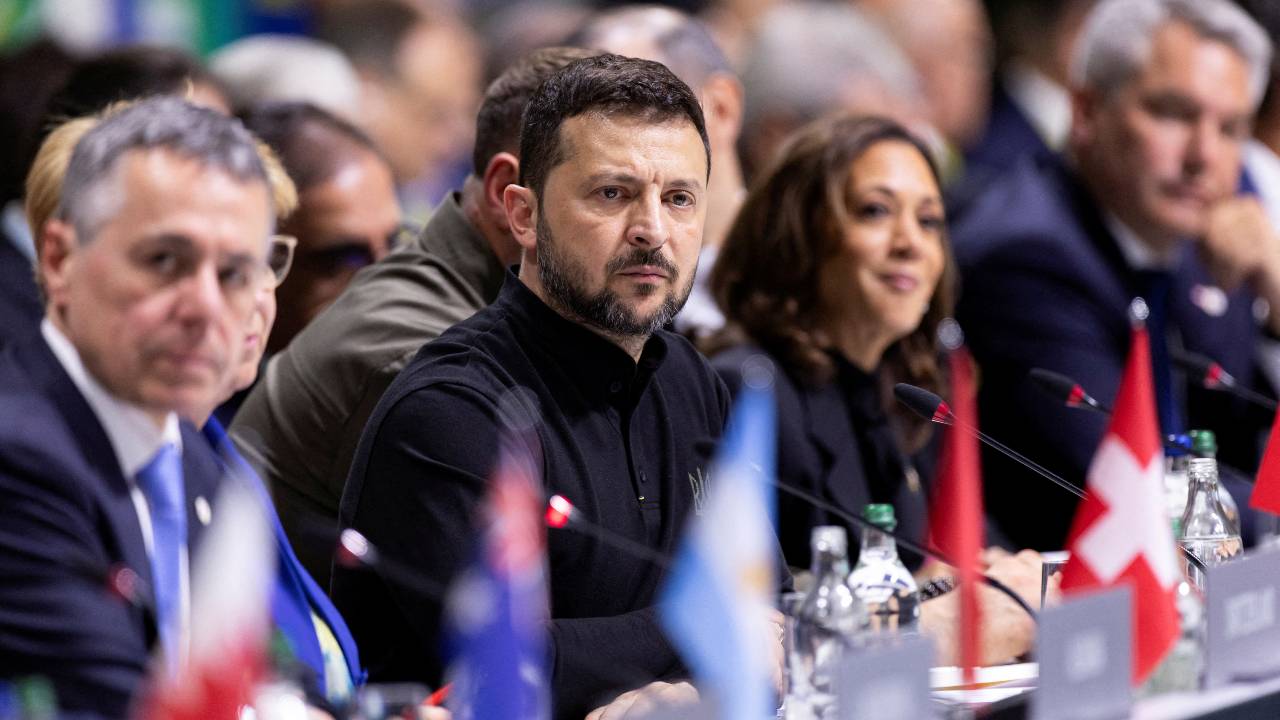
[[[756,354],[763,351],[739,346],[712,359],[712,368],[733,396],[742,386],[742,361]],[[785,368],[777,359],[773,363]],[[923,542],[925,489],[919,479],[929,468],[920,473],[915,469],[918,459],[902,455],[879,406],[876,379],[851,366],[842,368],[840,375],[813,386],[785,370],[777,373],[773,392],[778,407],[778,482],[854,515],[861,515],[869,502],[890,502],[899,532]],[[914,478],[908,480],[908,473]],[[777,500],[778,539],[787,565],[809,568],[809,534],[817,525],[844,527],[849,533],[850,562],[858,559],[861,530],[856,525],[782,491]],[[902,560],[919,562],[906,552]]]

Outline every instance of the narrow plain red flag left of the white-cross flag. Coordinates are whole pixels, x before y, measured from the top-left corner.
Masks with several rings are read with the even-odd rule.
[[[964,346],[952,350],[951,411],[955,423],[942,445],[942,471],[929,514],[929,542],[957,564],[960,579],[960,666],[965,683],[982,664],[982,611],[978,605],[978,556],[982,552],[982,469],[978,438],[955,425],[978,427],[973,359]]]

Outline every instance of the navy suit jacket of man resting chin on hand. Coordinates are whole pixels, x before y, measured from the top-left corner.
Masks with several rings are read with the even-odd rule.
[[[1062,407],[1027,378],[1047,368],[1075,378],[1111,404],[1129,352],[1126,309],[1140,283],[1107,231],[1093,199],[1056,158],[1018,165],[952,224],[964,279],[960,323],[982,368],[979,414],[986,432],[1079,486],[1102,439],[1106,419]],[[1220,295],[1220,314],[1193,296],[1219,293],[1188,242],[1174,273],[1171,346],[1213,357],[1240,379],[1263,387],[1256,364],[1260,331],[1253,297]],[[1256,465],[1261,424],[1229,396],[1174,374],[1190,427],[1217,433],[1221,457]],[[1256,418],[1256,415],[1252,415]],[[1062,547],[1075,498],[992,452],[983,455],[987,509],[1015,544]],[[1243,498],[1242,498],[1243,500]]]

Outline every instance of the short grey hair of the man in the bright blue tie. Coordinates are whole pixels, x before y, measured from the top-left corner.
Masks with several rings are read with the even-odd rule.
[[[168,96],[138,101],[104,118],[76,145],[58,217],[76,228],[81,242],[92,240],[119,209],[122,193],[109,181],[120,158],[134,150],[168,150],[239,182],[270,187],[256,142],[239,120],[214,110]]]

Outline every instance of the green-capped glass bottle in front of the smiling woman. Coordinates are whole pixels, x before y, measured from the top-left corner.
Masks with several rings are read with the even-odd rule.
[[[863,530],[858,565],[849,587],[867,609],[872,633],[911,633],[919,628],[920,592],[915,578],[897,556],[892,533],[897,528],[893,506],[872,503],[863,511],[874,528]]]

